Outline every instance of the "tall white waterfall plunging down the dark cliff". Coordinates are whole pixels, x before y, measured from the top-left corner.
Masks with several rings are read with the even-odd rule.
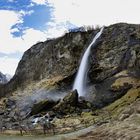
[[[100,32],[96,34],[96,36],[93,38],[92,42],[90,43],[90,45],[88,46],[87,50],[85,51],[82,57],[80,67],[78,69],[78,73],[73,85],[73,90],[77,89],[79,96],[85,95],[86,81],[87,81],[86,72],[88,69],[88,57],[90,54],[90,49],[95,44],[96,40],[101,36],[103,29],[104,27],[102,27]]]

